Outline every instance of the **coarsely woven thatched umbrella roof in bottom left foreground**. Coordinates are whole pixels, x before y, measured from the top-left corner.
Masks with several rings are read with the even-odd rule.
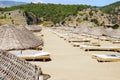
[[[36,65],[0,50],[0,80],[43,80]]]

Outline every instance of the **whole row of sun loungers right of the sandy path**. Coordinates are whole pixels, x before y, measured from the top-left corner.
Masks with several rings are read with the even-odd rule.
[[[76,34],[73,36],[71,33],[56,33],[60,38],[70,42],[74,47],[80,47],[84,51],[120,51],[120,46],[104,46],[99,41],[110,41],[112,43],[120,43],[120,40],[111,39],[107,36],[95,36],[90,34]],[[98,42],[92,42],[92,39],[98,39]],[[92,54],[92,58],[98,62],[115,62],[120,61],[120,54]]]

